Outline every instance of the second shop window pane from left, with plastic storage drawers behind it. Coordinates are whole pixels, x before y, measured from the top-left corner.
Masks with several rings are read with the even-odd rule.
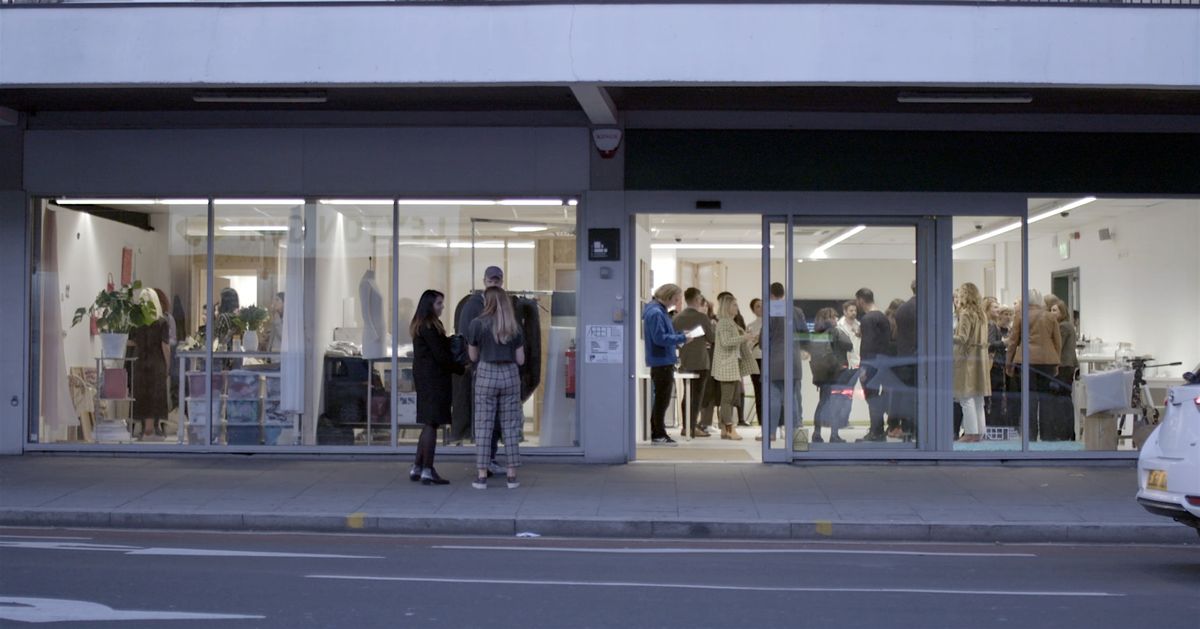
[[[298,327],[288,337],[284,317],[301,317],[305,307],[302,258],[289,257],[304,252],[304,215],[301,199],[214,202],[212,276],[203,265],[192,270],[202,294],[210,283],[212,290],[205,301],[215,348],[211,384],[222,394],[214,397],[212,443],[280,445],[300,438],[304,384],[295,360],[304,335]],[[284,361],[284,351],[292,361]]]

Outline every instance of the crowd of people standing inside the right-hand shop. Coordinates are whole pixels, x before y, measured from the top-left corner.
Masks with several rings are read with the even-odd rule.
[[[844,443],[841,431],[860,389],[868,407],[866,435],[860,442],[912,441],[918,408],[917,283],[907,300],[894,299],[886,308],[875,302],[870,288],[860,288],[841,312],[822,307],[808,328],[804,312],[793,305],[791,385],[785,385],[782,316],[768,317],[763,334],[763,304],[750,301],[755,317],[742,318],[737,299],[725,292],[715,304],[695,287],[686,290],[668,283],[659,287],[647,304],[644,324],[646,363],[650,369],[650,442],[673,445],[665,415],[676,381],[676,370],[688,373],[689,395],[680,408],[680,437],[703,438],[713,433],[713,417],[720,437],[739,441],[737,426],[744,417],[743,379],[754,387],[755,417],[763,435],[775,438],[782,429],[784,395],[792,391],[794,426],[803,425],[800,381],[809,363],[811,382],[818,390],[812,415],[811,441]],[[784,300],[784,287],[774,283],[770,299]],[[959,443],[982,442],[989,426],[1019,429],[1021,417],[1021,321],[1013,306],[984,298],[966,282],[954,290],[953,397],[954,438]],[[1057,296],[1028,294],[1030,439],[1074,439],[1072,385],[1078,370],[1075,327],[1072,312]],[[770,339],[770,364],[762,364],[763,342]],[[772,405],[762,412],[762,385],[772,388]],[[762,436],[757,437],[758,439]]]

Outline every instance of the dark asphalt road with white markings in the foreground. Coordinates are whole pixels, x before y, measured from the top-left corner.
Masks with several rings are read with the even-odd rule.
[[[1194,629],[1198,617],[1195,546],[0,528],[0,627]]]

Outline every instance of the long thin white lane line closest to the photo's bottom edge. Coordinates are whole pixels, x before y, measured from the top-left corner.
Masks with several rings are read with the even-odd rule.
[[[828,592],[846,594],[964,594],[971,597],[1124,597],[1112,592],[1021,592],[1013,589],[937,589],[917,587],[775,587],[709,586],[702,583],[637,583],[628,581],[541,581],[526,579],[444,579],[430,576],[305,575],[307,579],[344,581],[403,581],[421,583],[479,583],[493,586],[654,587],[666,589],[716,589],[725,592]]]

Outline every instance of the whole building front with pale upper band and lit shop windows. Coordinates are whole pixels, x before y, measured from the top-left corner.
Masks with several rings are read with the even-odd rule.
[[[1074,381],[1200,363],[1198,49],[1195,5],[5,5],[0,449],[412,451],[415,304],[461,331],[494,265],[527,454],[662,456],[641,314],[677,283],[778,324],[767,430],[676,451],[1133,457]],[[109,284],[163,296],[104,354]],[[847,319],[814,384],[862,288],[889,331]]]

